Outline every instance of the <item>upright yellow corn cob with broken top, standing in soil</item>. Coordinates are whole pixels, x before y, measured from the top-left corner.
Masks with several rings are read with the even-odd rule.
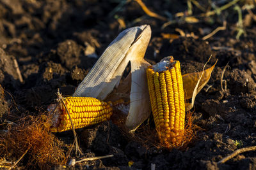
[[[185,103],[180,62],[166,57],[147,69],[150,103],[161,143],[182,145]]]

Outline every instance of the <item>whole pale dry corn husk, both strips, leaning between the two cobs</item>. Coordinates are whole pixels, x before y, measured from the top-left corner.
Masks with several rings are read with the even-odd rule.
[[[131,62],[131,104],[126,125],[131,130],[136,129],[150,115],[145,71],[150,64],[143,59],[150,37],[149,25],[121,32],[106,48],[73,96],[105,99],[118,86],[125,67]]]

